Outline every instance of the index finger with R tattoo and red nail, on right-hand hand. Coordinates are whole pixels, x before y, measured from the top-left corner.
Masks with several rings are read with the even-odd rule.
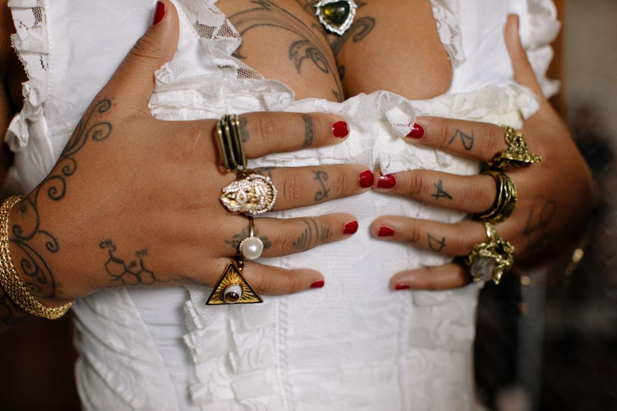
[[[408,143],[484,162],[508,148],[503,128],[490,123],[421,116],[416,119],[414,130],[418,132],[405,137]]]

